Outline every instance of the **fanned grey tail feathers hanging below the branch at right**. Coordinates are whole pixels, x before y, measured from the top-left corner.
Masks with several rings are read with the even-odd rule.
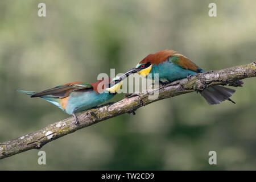
[[[236,102],[232,101],[229,97],[235,93],[236,90],[226,88],[224,86],[212,86],[207,88],[201,92],[201,95],[205,98],[209,105],[220,104],[221,102],[228,100],[236,104]]]

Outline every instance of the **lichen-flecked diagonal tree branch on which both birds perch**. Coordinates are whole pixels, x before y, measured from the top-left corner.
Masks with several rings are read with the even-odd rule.
[[[75,125],[73,117],[64,119],[46,126],[44,129],[34,133],[24,135],[23,137],[0,143],[0,159],[18,154],[32,148],[41,148],[44,144],[51,142],[64,135],[88,127],[97,122],[113,118],[124,113],[134,113],[139,107],[151,104],[164,98],[179,96],[189,92],[201,91],[213,85],[242,86],[242,79],[256,76],[256,61],[241,65],[238,67],[222,69],[220,71],[200,73],[196,76],[177,80],[159,88],[159,97],[156,100],[149,100],[148,95],[156,89],[148,90],[148,93],[131,94],[123,100],[108,103],[106,105],[90,109],[79,114],[77,117],[80,126]]]

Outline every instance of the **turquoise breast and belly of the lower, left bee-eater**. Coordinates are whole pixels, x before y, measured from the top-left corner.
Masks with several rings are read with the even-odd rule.
[[[112,99],[115,94],[100,93],[97,94],[93,90],[86,92],[72,92],[68,99],[67,107],[65,112],[68,114],[79,113],[84,110],[96,107],[110,99]]]

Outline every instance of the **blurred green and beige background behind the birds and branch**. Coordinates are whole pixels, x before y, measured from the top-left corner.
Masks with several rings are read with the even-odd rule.
[[[38,3],[46,3],[46,17]],[[217,4],[217,17],[208,5]],[[174,49],[205,70],[256,60],[256,1],[0,1],[0,142],[69,117],[39,98],[71,81],[133,68],[149,53]],[[0,169],[256,169],[256,84],[209,106],[184,94],[76,131],[38,150],[0,160]],[[119,94],[112,101],[123,98]],[[217,152],[217,165],[208,152]]]

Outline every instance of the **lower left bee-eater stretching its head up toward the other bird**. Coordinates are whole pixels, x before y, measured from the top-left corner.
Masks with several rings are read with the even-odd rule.
[[[110,100],[121,86],[122,80],[117,77],[112,80],[102,78],[102,80],[90,84],[81,81],[70,82],[42,92],[17,91],[51,102],[65,113],[72,114],[76,119],[75,123],[79,124],[75,113],[91,109]]]

